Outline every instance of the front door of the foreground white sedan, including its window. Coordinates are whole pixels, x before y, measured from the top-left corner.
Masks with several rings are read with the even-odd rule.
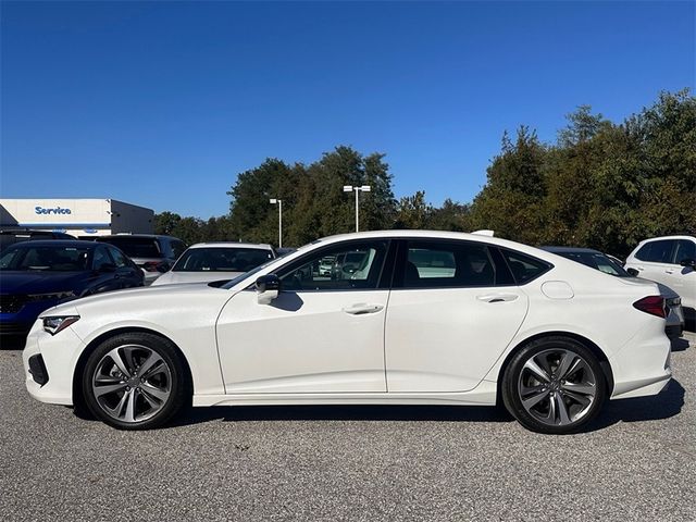
[[[332,245],[278,269],[270,304],[254,289],[235,295],[217,321],[226,393],[385,391],[387,249],[378,239]]]

